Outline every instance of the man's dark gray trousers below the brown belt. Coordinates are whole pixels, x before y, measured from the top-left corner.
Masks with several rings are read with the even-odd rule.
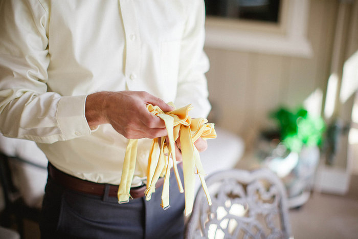
[[[182,168],[178,167],[181,175]],[[182,179],[183,182],[183,179]],[[170,177],[170,208],[163,210],[162,187],[145,198],[118,204],[116,197],[71,191],[49,177],[40,220],[41,238],[184,238],[184,193]]]

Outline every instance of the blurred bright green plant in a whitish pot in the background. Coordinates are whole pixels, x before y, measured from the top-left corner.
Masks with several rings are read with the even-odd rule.
[[[270,117],[276,128],[262,134],[262,139],[271,145],[261,157],[262,164],[284,182],[290,207],[298,207],[309,197],[326,125],[322,117],[311,116],[303,107],[280,107]]]

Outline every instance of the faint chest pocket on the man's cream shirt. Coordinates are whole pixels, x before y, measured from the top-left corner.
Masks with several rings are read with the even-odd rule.
[[[180,40],[163,41],[160,50],[162,82],[176,83],[180,63]]]

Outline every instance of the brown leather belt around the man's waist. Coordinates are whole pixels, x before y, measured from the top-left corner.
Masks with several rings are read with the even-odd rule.
[[[76,178],[74,176],[68,175],[55,168],[51,163],[49,163],[48,167],[49,176],[58,184],[63,186],[66,189],[70,189],[77,192],[89,193],[93,195],[104,196],[105,187],[108,184],[103,183],[94,183],[90,181],[86,181],[83,179]],[[158,182],[155,184],[155,188],[159,188],[163,185],[164,178],[160,178]],[[109,197],[117,197],[119,185],[109,185],[108,195]],[[139,187],[130,188],[130,196],[133,199],[144,197],[144,191],[146,189],[146,185],[142,185]]]

